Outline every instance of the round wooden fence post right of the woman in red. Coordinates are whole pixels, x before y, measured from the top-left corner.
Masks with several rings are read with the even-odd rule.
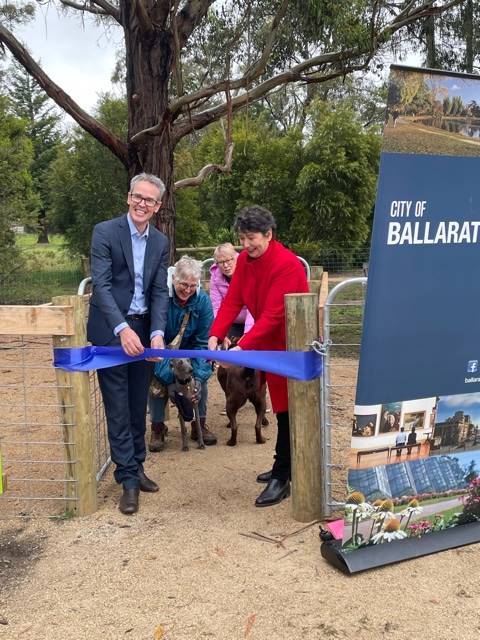
[[[318,295],[285,296],[287,349],[308,351],[319,338]],[[321,469],[320,380],[288,380],[292,458],[292,514],[310,522],[325,513]]]

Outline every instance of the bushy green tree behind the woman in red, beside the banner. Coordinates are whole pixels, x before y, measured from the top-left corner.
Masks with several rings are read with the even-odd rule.
[[[345,246],[367,240],[375,198],[380,137],[345,106],[313,107],[314,127],[296,180],[290,240]]]

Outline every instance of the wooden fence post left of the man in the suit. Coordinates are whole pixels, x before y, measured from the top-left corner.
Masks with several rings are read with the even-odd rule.
[[[83,347],[87,343],[83,296],[56,296],[54,305],[73,307],[74,335],[54,336],[54,347]],[[96,438],[90,408],[88,372],[55,369],[65,442],[67,510],[85,516],[97,509]]]

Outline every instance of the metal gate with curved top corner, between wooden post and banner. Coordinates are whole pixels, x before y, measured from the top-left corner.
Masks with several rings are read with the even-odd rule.
[[[345,504],[366,284],[367,278],[339,282],[324,306],[320,419],[326,515]]]

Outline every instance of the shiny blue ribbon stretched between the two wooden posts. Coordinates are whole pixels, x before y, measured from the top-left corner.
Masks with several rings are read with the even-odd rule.
[[[145,349],[140,356],[127,356],[121,347],[58,348],[53,350],[53,366],[66,371],[92,371],[158,357],[218,360],[295,380],[314,380],[322,373],[322,356],[315,351]]]

